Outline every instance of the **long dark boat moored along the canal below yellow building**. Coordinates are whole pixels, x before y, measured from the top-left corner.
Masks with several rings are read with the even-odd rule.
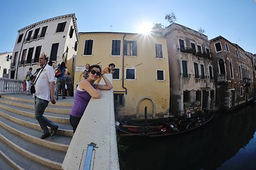
[[[203,111],[198,115],[193,115],[191,118],[171,118],[169,121],[162,121],[161,123],[155,124],[149,123],[146,125],[119,122],[117,132],[119,136],[159,137],[176,135],[205,125],[213,118],[214,115],[214,111]]]

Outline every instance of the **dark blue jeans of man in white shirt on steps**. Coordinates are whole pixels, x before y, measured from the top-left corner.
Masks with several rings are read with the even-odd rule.
[[[43,134],[49,133],[47,126],[50,128],[56,127],[56,125],[53,124],[50,120],[48,120],[48,118],[43,116],[43,113],[46,110],[48,103],[49,101],[45,101],[35,96],[35,118],[36,120],[38,120],[38,123],[42,128]]]

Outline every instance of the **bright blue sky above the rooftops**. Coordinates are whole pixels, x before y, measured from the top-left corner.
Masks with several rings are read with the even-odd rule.
[[[0,53],[12,52],[18,30],[38,21],[75,13],[79,32],[138,33],[142,23],[176,23],[198,30],[208,39],[222,35],[256,54],[256,0],[1,0]]]

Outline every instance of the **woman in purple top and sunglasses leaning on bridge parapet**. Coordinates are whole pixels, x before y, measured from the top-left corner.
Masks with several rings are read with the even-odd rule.
[[[85,108],[90,101],[90,98],[100,98],[100,90],[110,90],[113,88],[111,82],[107,77],[101,73],[102,70],[99,65],[92,65],[88,71],[87,79],[83,79],[79,82],[77,90],[75,91],[75,100],[70,113],[70,125],[75,132],[78,127],[78,123],[82,118]],[[100,77],[105,81],[103,84],[94,84],[94,82]]]

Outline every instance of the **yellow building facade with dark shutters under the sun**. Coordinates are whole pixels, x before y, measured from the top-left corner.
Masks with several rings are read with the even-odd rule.
[[[113,91],[120,118],[169,115],[170,80],[166,38],[135,33],[80,33],[74,84],[85,64],[115,64]],[[145,114],[146,113],[146,114]]]

